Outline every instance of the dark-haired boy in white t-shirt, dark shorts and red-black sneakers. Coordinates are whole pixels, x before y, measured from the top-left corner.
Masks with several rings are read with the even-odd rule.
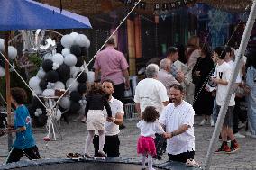
[[[215,76],[212,77],[212,81],[217,84],[216,88],[216,104],[218,114],[220,112],[221,106],[224,105],[224,98],[228,91],[228,83],[232,76],[232,68],[228,63],[224,61],[226,52],[222,47],[217,47],[214,49],[214,56],[217,57],[217,66],[215,68]],[[222,146],[218,148],[215,153],[233,153],[240,149],[234,135],[233,135],[233,108],[234,108],[234,93],[231,95],[230,103],[228,104],[228,109],[224,118],[224,124],[221,131],[222,136]],[[227,138],[231,139],[231,146],[227,145]]]

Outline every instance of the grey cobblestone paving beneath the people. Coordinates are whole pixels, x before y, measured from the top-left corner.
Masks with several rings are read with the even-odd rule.
[[[196,117],[196,123],[199,122],[200,117]],[[135,128],[137,121],[125,121],[126,128],[121,131],[121,156],[132,157],[138,159],[136,154],[136,140],[139,135],[139,130]],[[63,140],[51,141],[46,147],[42,138],[45,136],[43,128],[34,129],[35,138],[41,152],[41,156],[45,158],[59,158],[66,157],[69,152],[82,152],[84,148],[85,139],[87,136],[86,126],[80,122],[70,122],[66,124],[61,122]],[[209,138],[212,135],[213,128],[209,125],[200,127],[195,125],[196,135],[196,160],[203,165],[206,157],[206,151],[209,145]],[[244,131],[242,130],[242,133]],[[212,162],[212,170],[256,170],[256,139],[245,138],[238,139],[241,144],[241,150],[235,154],[218,154],[214,155]],[[0,137],[0,151],[3,152],[7,148],[6,136]],[[93,148],[91,148],[93,151]],[[167,157],[163,157],[161,161],[165,162]],[[5,161],[5,157],[0,157],[0,164]]]

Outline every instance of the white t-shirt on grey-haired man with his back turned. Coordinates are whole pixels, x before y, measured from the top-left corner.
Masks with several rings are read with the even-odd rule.
[[[164,108],[163,102],[169,101],[165,86],[154,78],[145,78],[136,86],[134,102],[140,103],[141,112],[153,106],[158,112]]]

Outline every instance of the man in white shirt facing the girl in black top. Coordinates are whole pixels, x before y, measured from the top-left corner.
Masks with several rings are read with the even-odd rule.
[[[105,145],[103,150],[107,157],[119,157],[120,140],[118,134],[120,133],[119,125],[123,123],[123,103],[115,99],[112,94],[114,93],[114,82],[112,80],[105,80],[102,84],[103,91],[108,99],[111,107],[112,117],[106,118],[105,122]],[[93,140],[95,148],[95,156],[98,150],[98,136]]]

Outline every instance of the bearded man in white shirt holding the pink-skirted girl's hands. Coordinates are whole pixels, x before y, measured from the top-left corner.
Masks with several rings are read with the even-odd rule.
[[[194,159],[195,155],[195,111],[191,104],[183,100],[184,93],[181,85],[170,87],[172,103],[164,108],[159,121],[166,128],[169,160],[186,163],[187,159]]]

